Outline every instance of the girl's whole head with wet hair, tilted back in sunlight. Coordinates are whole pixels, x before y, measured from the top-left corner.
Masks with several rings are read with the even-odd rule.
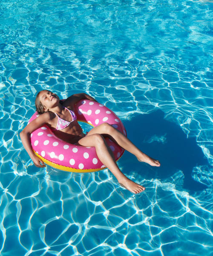
[[[55,93],[52,93],[49,90],[40,91],[35,98],[37,113],[40,115],[49,111],[49,109],[54,107],[57,102],[60,101],[59,97]]]

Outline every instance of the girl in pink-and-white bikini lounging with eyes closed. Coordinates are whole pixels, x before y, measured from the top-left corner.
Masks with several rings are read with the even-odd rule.
[[[108,123],[92,128],[87,135],[83,134],[83,130],[78,124],[74,113],[75,103],[81,99],[96,101],[85,93],[74,94],[63,102],[60,101],[55,93],[49,90],[42,90],[37,94],[35,105],[40,116],[30,122],[20,133],[23,146],[35,166],[45,167],[43,161],[32,150],[30,134],[46,124],[61,140],[85,147],[95,147],[98,158],[115,175],[121,186],[135,194],[144,191],[145,188],[143,186],[128,179],[121,172],[104,138],[109,137],[110,140],[134,154],[140,162],[149,163],[151,166],[160,166],[160,162],[141,152],[127,137]],[[62,119],[63,122],[61,122]]]

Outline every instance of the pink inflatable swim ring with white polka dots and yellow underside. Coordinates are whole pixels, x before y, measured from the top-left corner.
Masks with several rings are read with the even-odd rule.
[[[107,122],[127,136],[126,129],[118,116],[98,102],[87,99],[79,101],[75,105],[75,114],[79,122],[86,122],[93,127]],[[37,112],[35,112],[29,122],[37,116]],[[124,154],[124,148],[121,148],[109,138],[106,138],[106,142],[111,148],[115,160],[118,161]],[[35,154],[44,163],[60,170],[96,172],[106,169],[106,166],[98,159],[95,147],[83,147],[60,140],[47,125],[43,125],[43,127],[32,132],[31,144]]]

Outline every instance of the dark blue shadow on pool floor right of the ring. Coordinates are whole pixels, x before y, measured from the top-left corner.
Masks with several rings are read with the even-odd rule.
[[[203,151],[196,143],[196,137],[187,138],[179,125],[164,119],[163,111],[136,114],[131,121],[124,120],[123,124],[128,138],[144,153],[161,162],[161,167],[152,167],[154,171],[150,172],[151,169],[149,172],[145,171],[144,177],[149,175],[149,178],[168,178],[181,170],[184,174],[184,189],[193,192],[207,188],[206,185],[192,178],[194,167],[209,165]],[[161,138],[161,142],[157,141],[157,138]],[[130,153],[127,152],[125,154],[127,157],[124,159],[123,171],[128,174],[128,169],[132,170],[138,165],[138,161],[134,158],[135,163],[132,166],[133,156],[130,157],[127,155]]]

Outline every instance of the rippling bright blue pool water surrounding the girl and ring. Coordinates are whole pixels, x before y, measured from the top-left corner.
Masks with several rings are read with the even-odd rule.
[[[1,0],[0,255],[213,255],[212,1]],[[155,168],[37,169],[19,133],[35,95],[86,92]]]

